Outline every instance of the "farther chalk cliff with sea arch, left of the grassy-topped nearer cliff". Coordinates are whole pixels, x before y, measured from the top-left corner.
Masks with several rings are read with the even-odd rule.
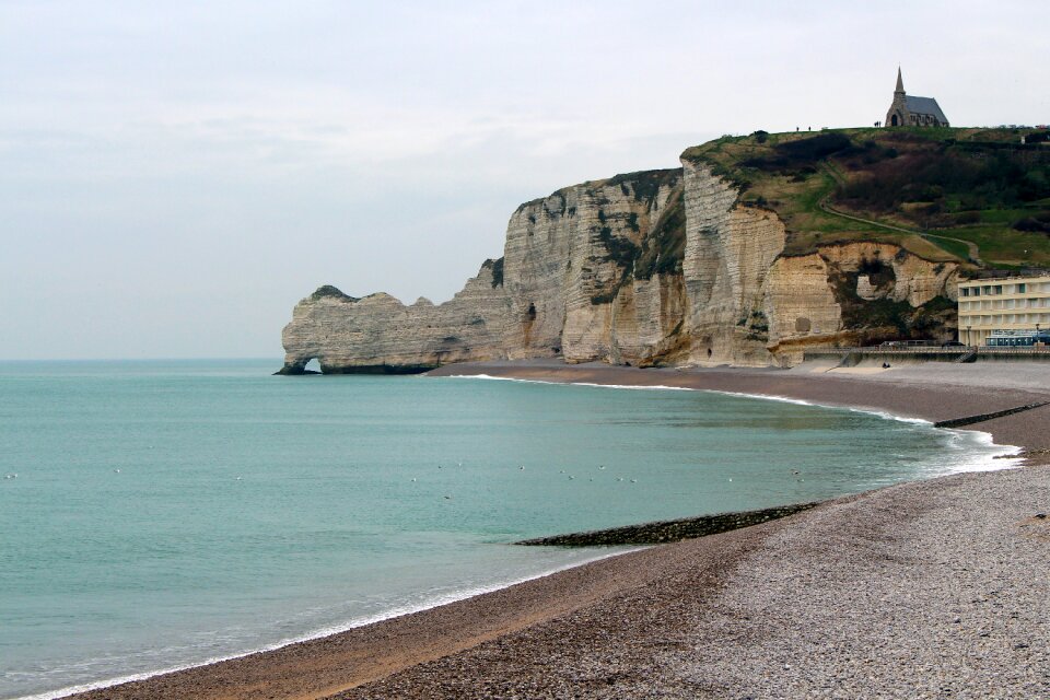
[[[302,373],[314,358],[325,373],[392,373],[470,360],[649,365],[682,355],[681,189],[680,171],[651,171],[522,205],[504,257],[444,304],[322,288],[284,328],[281,372]]]

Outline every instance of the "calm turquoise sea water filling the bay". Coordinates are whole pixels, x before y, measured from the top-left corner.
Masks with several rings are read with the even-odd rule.
[[[511,545],[527,537],[1004,464],[979,433],[844,409],[276,366],[0,363],[0,698],[272,648],[619,551]]]

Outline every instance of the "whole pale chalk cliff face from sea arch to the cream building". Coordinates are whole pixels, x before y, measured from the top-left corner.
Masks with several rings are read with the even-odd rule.
[[[504,257],[453,300],[406,306],[325,287],[284,328],[282,372],[450,362],[789,365],[815,345],[950,322],[958,268],[895,245],[785,256],[784,224],[702,164],[620,175],[522,205]]]

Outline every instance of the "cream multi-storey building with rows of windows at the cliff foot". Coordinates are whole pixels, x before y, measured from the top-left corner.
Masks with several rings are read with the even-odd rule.
[[[992,331],[1050,328],[1050,277],[959,282],[959,340],[985,345]]]

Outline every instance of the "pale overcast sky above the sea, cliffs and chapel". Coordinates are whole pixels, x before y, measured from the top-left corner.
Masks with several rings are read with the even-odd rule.
[[[0,359],[282,355],[722,133],[1050,121],[1042,2],[0,0]]]

